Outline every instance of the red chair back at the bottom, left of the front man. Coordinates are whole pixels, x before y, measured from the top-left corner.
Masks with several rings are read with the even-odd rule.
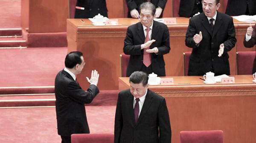
[[[114,134],[72,134],[71,143],[113,143]]]

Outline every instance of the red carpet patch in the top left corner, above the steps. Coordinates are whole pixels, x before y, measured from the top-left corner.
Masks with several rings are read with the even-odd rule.
[[[20,28],[21,0],[1,0],[0,3],[0,28]]]

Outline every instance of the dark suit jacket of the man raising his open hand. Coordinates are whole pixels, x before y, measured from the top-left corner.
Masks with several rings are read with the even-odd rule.
[[[58,135],[90,133],[84,104],[90,103],[98,93],[95,85],[90,85],[87,92],[82,90],[64,70],[57,74],[55,97]]]

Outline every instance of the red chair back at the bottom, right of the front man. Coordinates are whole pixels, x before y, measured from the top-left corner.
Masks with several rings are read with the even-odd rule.
[[[180,143],[223,143],[223,131],[181,131]]]

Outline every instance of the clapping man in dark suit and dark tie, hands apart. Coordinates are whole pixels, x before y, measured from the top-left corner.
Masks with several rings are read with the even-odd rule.
[[[211,71],[215,76],[230,75],[227,52],[236,44],[232,17],[218,12],[219,0],[203,0],[203,11],[189,20],[186,46],[192,49],[189,76],[202,76]]]

